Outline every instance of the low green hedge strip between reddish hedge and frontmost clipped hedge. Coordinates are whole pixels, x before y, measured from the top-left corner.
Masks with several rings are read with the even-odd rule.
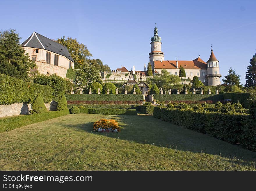
[[[140,111],[140,105],[128,105],[128,104],[121,104],[121,105],[115,105],[115,104],[70,104],[67,105],[67,108],[71,109],[72,107],[77,106],[83,106],[85,108],[93,108],[93,109],[136,109],[137,111]]]

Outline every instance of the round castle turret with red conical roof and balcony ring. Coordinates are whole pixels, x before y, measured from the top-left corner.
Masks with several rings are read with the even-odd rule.
[[[215,57],[213,53],[213,49],[211,46],[211,56],[209,60],[207,61],[207,81],[208,85],[219,85],[221,84],[221,74],[220,74],[220,68],[219,68],[219,61]]]

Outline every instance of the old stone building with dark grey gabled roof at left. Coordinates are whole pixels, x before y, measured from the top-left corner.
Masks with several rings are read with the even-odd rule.
[[[35,61],[40,74],[58,74],[66,78],[67,69],[74,68],[74,60],[67,47],[36,32],[25,40],[21,46]]]

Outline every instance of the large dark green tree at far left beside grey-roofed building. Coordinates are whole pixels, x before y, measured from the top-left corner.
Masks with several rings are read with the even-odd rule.
[[[30,69],[36,64],[20,46],[20,37],[15,30],[0,31],[0,73],[26,80]]]

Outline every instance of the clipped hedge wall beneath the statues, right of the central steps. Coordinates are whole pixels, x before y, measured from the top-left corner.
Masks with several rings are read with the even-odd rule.
[[[223,100],[223,94],[156,94],[154,99],[158,101],[218,101]]]

